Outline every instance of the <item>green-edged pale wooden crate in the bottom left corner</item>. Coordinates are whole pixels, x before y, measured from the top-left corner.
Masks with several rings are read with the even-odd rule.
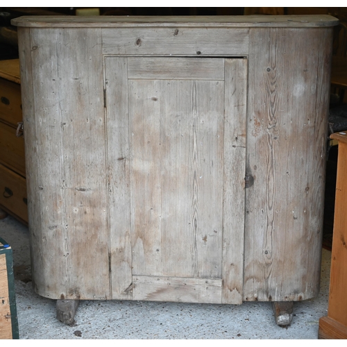
[[[12,248],[0,237],[0,339],[19,339]]]

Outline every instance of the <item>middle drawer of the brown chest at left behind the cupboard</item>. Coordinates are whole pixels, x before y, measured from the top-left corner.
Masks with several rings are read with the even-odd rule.
[[[24,137],[0,121],[0,163],[25,176]]]

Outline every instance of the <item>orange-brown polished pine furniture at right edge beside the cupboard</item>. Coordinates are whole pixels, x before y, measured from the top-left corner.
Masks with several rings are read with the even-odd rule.
[[[347,132],[335,133],[339,141],[334,232],[328,316],[319,320],[320,339],[347,339]]]

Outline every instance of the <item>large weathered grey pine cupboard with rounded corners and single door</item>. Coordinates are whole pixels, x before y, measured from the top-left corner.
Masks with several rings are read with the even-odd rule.
[[[38,294],[227,304],[318,294],[337,19],[12,24]]]

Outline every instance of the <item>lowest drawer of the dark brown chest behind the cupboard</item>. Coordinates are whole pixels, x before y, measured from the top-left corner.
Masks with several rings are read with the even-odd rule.
[[[0,164],[0,205],[28,223],[26,179]]]

